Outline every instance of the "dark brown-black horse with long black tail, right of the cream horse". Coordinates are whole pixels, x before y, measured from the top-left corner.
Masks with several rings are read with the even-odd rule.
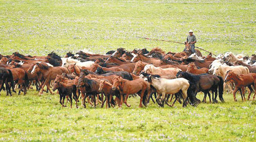
[[[183,77],[189,81],[189,90],[191,90],[195,95],[203,91],[204,93],[204,101],[206,101],[207,94],[209,95],[209,91],[212,91],[212,99],[213,103],[217,102],[217,92],[218,97],[220,98],[221,102],[224,102],[222,97],[223,95],[223,79],[220,76],[214,76],[212,74],[200,74],[194,75],[187,72],[178,72],[177,77]],[[215,97],[214,97],[215,94]],[[211,101],[210,101],[211,102]]]

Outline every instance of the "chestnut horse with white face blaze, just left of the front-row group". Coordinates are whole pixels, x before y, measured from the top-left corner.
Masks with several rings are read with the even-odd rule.
[[[31,74],[37,73],[37,74],[42,74],[43,82],[40,85],[40,92],[39,94],[43,94],[43,88],[44,86],[47,86],[47,89],[50,91],[51,94],[53,92],[49,88],[49,83],[51,80],[55,80],[56,76],[59,74],[61,75],[62,73],[68,73],[68,69],[62,66],[56,66],[56,67],[51,67],[48,66],[44,62],[36,62],[30,66],[30,68],[27,70]]]

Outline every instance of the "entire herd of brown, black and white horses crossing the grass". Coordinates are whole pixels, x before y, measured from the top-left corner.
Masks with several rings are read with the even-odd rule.
[[[197,106],[200,102],[216,103],[217,96],[224,102],[224,90],[233,91],[234,101],[240,91],[245,101],[256,88],[256,56],[224,55],[203,57],[201,52],[184,51],[179,53],[164,52],[160,48],[134,49],[126,51],[118,48],[106,55],[77,52],[67,53],[64,57],[49,53],[48,56],[24,56],[18,52],[12,55],[0,55],[0,92],[6,90],[18,94],[27,93],[36,87],[39,95],[44,91],[60,95],[60,104],[65,107],[67,98],[72,108],[72,101],[81,101],[96,107],[101,103],[106,108],[122,107],[127,99],[139,95],[139,107],[147,106],[152,100],[159,106],[174,106],[175,102]],[[45,87],[46,86],[46,87]],[[203,92],[202,101],[196,98]],[[212,97],[211,97],[212,93]],[[172,99],[175,97],[174,101]],[[172,102],[170,105],[169,103]]]

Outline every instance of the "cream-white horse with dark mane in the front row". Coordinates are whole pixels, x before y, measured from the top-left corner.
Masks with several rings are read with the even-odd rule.
[[[160,95],[162,94],[161,102],[164,103],[166,99],[166,94],[175,94],[181,91],[183,98],[183,107],[186,105],[189,82],[185,78],[175,78],[172,80],[168,80],[165,78],[157,78],[150,75],[149,77],[144,78],[144,80],[150,82],[150,84],[154,86],[156,91],[158,92],[158,97],[156,98],[156,101],[159,100]],[[175,101],[172,103],[172,106],[174,106]]]

